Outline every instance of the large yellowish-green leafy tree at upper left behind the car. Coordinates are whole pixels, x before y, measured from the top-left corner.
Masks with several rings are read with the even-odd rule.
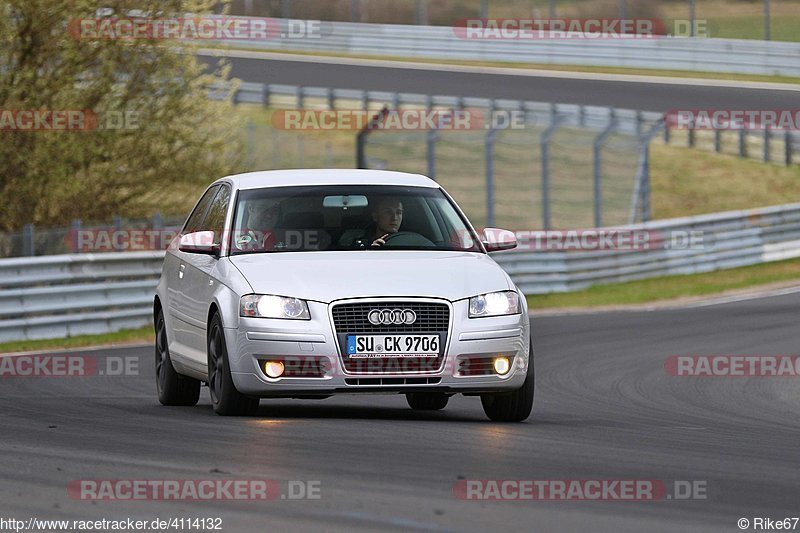
[[[98,12],[98,5],[0,0],[0,230],[185,211],[201,185],[241,161],[241,143],[231,135],[238,129],[232,104],[208,98],[208,87],[223,82],[227,67],[204,70],[196,44],[185,40],[70,34],[81,19],[128,17],[133,9],[140,16],[184,17],[210,13],[219,3],[103,4],[113,15]],[[40,116],[86,110],[80,116],[89,129],[8,127],[9,117],[23,110]]]

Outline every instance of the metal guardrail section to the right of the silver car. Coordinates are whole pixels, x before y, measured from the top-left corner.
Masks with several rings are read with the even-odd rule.
[[[800,257],[800,204],[729,211],[625,227],[662,235],[701,232],[702,246],[492,254],[526,294],[713,272]]]

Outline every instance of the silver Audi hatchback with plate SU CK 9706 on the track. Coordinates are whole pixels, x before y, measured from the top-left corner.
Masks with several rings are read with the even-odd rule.
[[[167,250],[153,305],[158,398],[220,415],[261,398],[479,396],[495,421],[533,407],[527,304],[425,176],[287,170],[211,184]]]

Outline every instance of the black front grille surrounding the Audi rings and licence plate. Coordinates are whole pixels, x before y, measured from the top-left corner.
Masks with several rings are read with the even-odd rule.
[[[417,315],[413,324],[374,325],[367,319],[373,309],[410,309]],[[444,362],[447,331],[450,327],[450,308],[433,302],[393,302],[339,304],[333,307],[333,325],[346,372],[359,374],[418,374],[438,371]],[[386,357],[350,359],[347,356],[347,335],[381,333],[426,333],[439,335],[437,357]]]

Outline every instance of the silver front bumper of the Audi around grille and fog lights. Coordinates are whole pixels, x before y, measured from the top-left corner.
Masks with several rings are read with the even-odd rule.
[[[450,329],[441,368],[435,371],[348,372],[330,320],[329,304],[309,302],[311,320],[240,318],[237,328],[226,329],[228,358],[236,388],[252,396],[291,397],[419,391],[469,394],[522,387],[530,355],[530,326],[525,313],[470,319],[467,300],[454,303],[431,298],[402,300],[447,303],[450,307]],[[462,357],[499,355],[512,360],[511,370],[505,375],[464,375],[461,371]],[[261,363],[280,357],[320,359],[326,369],[321,377],[267,377]]]

